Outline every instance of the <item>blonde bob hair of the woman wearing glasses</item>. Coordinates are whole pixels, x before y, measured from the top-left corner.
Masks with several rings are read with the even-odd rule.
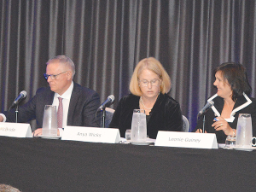
[[[148,69],[160,77],[160,91],[162,94],[168,93],[171,90],[171,79],[166,73],[165,68],[161,65],[160,61],[156,60],[154,57],[149,57],[138,62],[131,76],[130,91],[133,95],[143,95],[142,90],[139,87],[138,78],[144,69]]]

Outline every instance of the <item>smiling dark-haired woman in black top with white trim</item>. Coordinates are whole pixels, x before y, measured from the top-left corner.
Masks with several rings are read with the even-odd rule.
[[[249,97],[252,88],[248,83],[247,72],[241,64],[225,62],[214,71],[217,94],[207,100],[214,105],[205,113],[205,130],[215,133],[218,143],[225,143],[228,135],[236,136],[239,113],[250,113],[253,122],[253,136],[256,136],[256,102]],[[215,120],[216,118],[217,120]],[[201,118],[195,132],[201,132]]]

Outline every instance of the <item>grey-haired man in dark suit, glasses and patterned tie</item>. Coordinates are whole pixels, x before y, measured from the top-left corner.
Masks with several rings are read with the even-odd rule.
[[[39,136],[42,134],[44,106],[55,105],[57,108],[59,106],[62,108],[59,128],[66,125],[99,126],[96,122],[96,110],[100,106],[100,98],[96,91],[73,83],[75,74],[73,61],[65,55],[59,55],[50,59],[46,65],[44,77],[49,87],[38,89],[32,100],[19,108],[18,122],[36,119],[38,129],[34,131],[34,135]],[[15,122],[14,109],[6,116],[7,121]],[[3,119],[3,116],[0,116],[0,121]],[[61,132],[62,129],[59,129],[58,135]]]

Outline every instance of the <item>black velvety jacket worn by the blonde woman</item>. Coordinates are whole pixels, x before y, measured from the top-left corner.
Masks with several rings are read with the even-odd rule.
[[[139,109],[139,100],[140,96],[124,96],[113,113],[108,127],[119,128],[121,137],[125,137],[125,131],[131,129],[133,109]],[[182,131],[182,127],[183,118],[178,102],[171,96],[160,93],[148,119],[148,137],[156,138],[158,131]]]

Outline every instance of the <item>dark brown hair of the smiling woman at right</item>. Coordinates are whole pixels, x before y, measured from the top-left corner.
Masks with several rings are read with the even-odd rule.
[[[247,79],[246,68],[239,63],[235,62],[224,62],[214,70],[214,74],[221,72],[232,90],[232,100],[236,102],[239,96],[242,96],[243,92],[250,95],[252,87]]]

